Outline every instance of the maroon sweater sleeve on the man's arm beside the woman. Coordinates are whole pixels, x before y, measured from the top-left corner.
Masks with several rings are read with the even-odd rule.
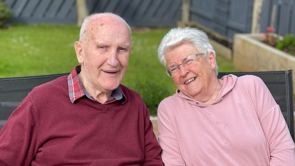
[[[161,159],[161,147],[157,142],[157,138],[153,132],[153,124],[150,120],[150,114],[147,106],[144,104],[144,144],[145,155],[143,166],[163,166]]]

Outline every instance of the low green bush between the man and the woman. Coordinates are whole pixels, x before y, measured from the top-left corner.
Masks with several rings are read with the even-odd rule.
[[[141,95],[152,116],[157,115],[159,103],[170,95],[167,86],[151,80],[136,80],[132,89]]]

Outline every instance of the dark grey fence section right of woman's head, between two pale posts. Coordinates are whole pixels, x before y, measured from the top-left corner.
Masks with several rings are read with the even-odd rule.
[[[190,21],[233,39],[251,32],[253,0],[191,0]]]

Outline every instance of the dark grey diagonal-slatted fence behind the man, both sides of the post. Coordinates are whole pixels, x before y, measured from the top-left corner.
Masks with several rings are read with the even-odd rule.
[[[0,0],[13,11],[10,22],[76,24],[75,0]],[[182,0],[87,0],[89,13],[112,12],[132,26],[176,26]]]

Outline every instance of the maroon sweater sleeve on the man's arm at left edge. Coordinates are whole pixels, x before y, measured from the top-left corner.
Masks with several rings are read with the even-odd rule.
[[[28,166],[38,149],[36,111],[26,97],[8,118],[0,132],[0,165]]]

